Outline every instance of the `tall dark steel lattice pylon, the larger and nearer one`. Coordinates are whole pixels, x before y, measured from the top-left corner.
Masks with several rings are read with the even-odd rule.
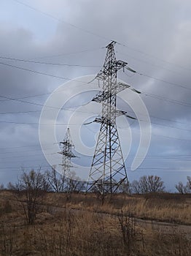
[[[128,63],[116,60],[115,43],[112,41],[106,46],[104,66],[95,77],[98,82],[102,81],[102,91],[92,99],[102,104],[102,112],[94,120],[101,124],[101,128],[87,181],[87,192],[96,187],[102,195],[114,193],[122,182],[128,182],[116,125],[117,116],[126,113],[116,108],[117,93],[130,87],[125,83],[117,83],[117,71],[124,69]],[[133,69],[126,68],[134,72]]]

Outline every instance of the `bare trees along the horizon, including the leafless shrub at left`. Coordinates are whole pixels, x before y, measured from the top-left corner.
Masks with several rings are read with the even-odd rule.
[[[179,182],[175,187],[181,194],[190,193],[191,177],[187,177],[187,184]],[[0,189],[4,189],[4,186],[1,185]],[[40,169],[30,172],[23,170],[15,184],[11,182],[7,184],[7,189],[13,192],[16,200],[23,207],[28,225],[33,225],[47,192],[64,192],[69,199],[74,192],[85,192],[86,182],[81,181],[75,172],[71,172],[69,177],[66,177],[52,167],[45,173],[41,173]],[[97,192],[96,188],[94,187],[91,192]],[[164,181],[159,176],[141,176],[138,181],[122,182],[117,192],[128,194],[165,192],[165,186]]]

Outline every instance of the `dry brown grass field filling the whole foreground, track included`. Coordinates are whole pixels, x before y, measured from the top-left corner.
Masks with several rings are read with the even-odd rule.
[[[47,193],[27,225],[23,206],[0,192],[0,255],[191,255],[190,195]]]

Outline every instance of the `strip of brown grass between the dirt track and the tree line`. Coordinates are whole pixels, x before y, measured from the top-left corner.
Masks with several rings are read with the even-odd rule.
[[[70,200],[63,194],[48,194],[47,201],[56,206],[76,208],[105,214],[120,214],[131,211],[139,219],[191,225],[191,195],[149,194],[149,195],[108,195],[102,206],[96,195],[71,195]]]

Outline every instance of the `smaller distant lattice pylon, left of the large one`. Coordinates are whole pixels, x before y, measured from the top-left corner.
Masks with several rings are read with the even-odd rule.
[[[60,142],[60,146],[63,146],[62,151],[58,152],[63,155],[62,164],[63,166],[63,177],[69,177],[71,165],[71,158],[76,157],[72,150],[74,149],[74,144],[71,140],[71,134],[69,128],[66,130],[66,135],[63,141]]]

